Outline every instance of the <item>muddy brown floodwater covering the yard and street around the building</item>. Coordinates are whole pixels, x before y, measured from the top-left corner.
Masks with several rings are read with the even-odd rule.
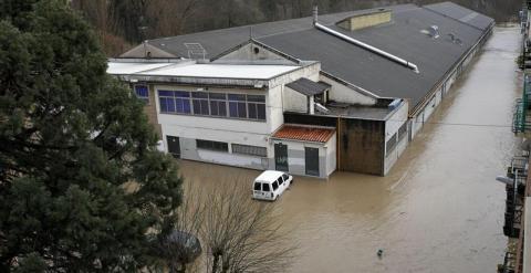
[[[518,28],[496,28],[387,177],[296,177],[273,203],[299,245],[290,272],[496,272],[511,133]],[[196,185],[250,181],[259,171],[183,161]],[[250,188],[249,188],[250,189]],[[382,259],[376,252],[384,250]]]

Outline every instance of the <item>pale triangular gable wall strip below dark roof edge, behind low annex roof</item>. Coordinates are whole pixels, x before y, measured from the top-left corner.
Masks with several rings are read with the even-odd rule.
[[[332,85],[329,92],[329,98],[331,101],[361,105],[374,105],[376,103],[376,98],[362,94],[358,91],[325,75],[320,75],[319,80]]]

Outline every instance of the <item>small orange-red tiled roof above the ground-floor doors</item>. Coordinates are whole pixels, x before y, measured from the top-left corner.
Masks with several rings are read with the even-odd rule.
[[[326,143],[334,135],[335,129],[324,127],[312,127],[301,125],[282,125],[277,130],[272,138],[311,141],[311,143]]]

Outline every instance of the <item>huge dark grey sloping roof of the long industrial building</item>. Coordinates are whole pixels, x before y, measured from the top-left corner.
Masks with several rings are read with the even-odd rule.
[[[325,73],[378,96],[408,98],[415,108],[493,23],[490,18],[475,15],[476,12],[448,2],[429,7],[400,4],[387,9],[393,12],[391,23],[356,31],[345,31],[335,23],[367,10],[320,15],[319,22],[415,63],[420,71],[418,74],[315,29],[312,18],[256,24],[252,25],[252,38],[296,59],[320,61]],[[464,18],[468,21],[465,22]],[[438,39],[425,34],[430,25],[438,27]],[[214,57],[248,41],[249,33],[250,27],[239,27],[156,39],[149,44],[177,56],[187,56],[184,43],[198,42],[207,50],[207,57]],[[461,43],[452,42],[449,33]]]

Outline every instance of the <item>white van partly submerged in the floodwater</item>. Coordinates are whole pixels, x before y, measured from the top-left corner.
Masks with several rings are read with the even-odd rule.
[[[252,198],[274,201],[293,181],[293,177],[277,170],[266,170],[254,179]]]

